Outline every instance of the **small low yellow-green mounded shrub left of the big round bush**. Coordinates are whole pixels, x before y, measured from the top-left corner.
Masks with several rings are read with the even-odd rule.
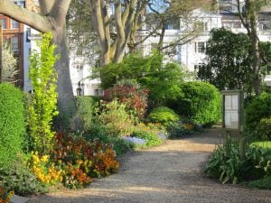
[[[178,121],[179,115],[175,114],[173,109],[165,106],[154,108],[154,110],[147,116],[148,122],[160,123],[163,125],[169,125],[172,122]]]

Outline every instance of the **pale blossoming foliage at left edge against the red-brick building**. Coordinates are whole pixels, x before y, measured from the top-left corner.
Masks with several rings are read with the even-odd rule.
[[[18,60],[14,58],[13,51],[6,43],[3,45],[2,54],[3,81],[14,83],[15,76],[18,74]]]

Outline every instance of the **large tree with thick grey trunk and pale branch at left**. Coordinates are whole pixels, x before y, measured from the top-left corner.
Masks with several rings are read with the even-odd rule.
[[[15,5],[10,0],[0,0],[0,13],[14,20],[28,24],[40,32],[51,32],[52,42],[60,55],[55,68],[58,72],[58,106],[62,117],[74,114],[75,100],[72,93],[69,69],[69,55],[66,43],[66,14],[71,0],[39,0],[40,13]],[[61,124],[63,126],[64,124]]]

